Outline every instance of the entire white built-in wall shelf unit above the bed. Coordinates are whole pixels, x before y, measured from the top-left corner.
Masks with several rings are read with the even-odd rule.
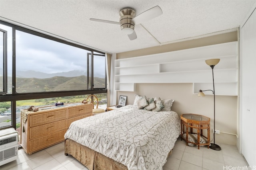
[[[193,83],[193,93],[197,94],[199,89],[212,89],[212,69],[205,60],[214,58],[220,59],[214,67],[216,95],[238,95],[237,41],[118,59],[115,89],[134,91],[136,83]]]

